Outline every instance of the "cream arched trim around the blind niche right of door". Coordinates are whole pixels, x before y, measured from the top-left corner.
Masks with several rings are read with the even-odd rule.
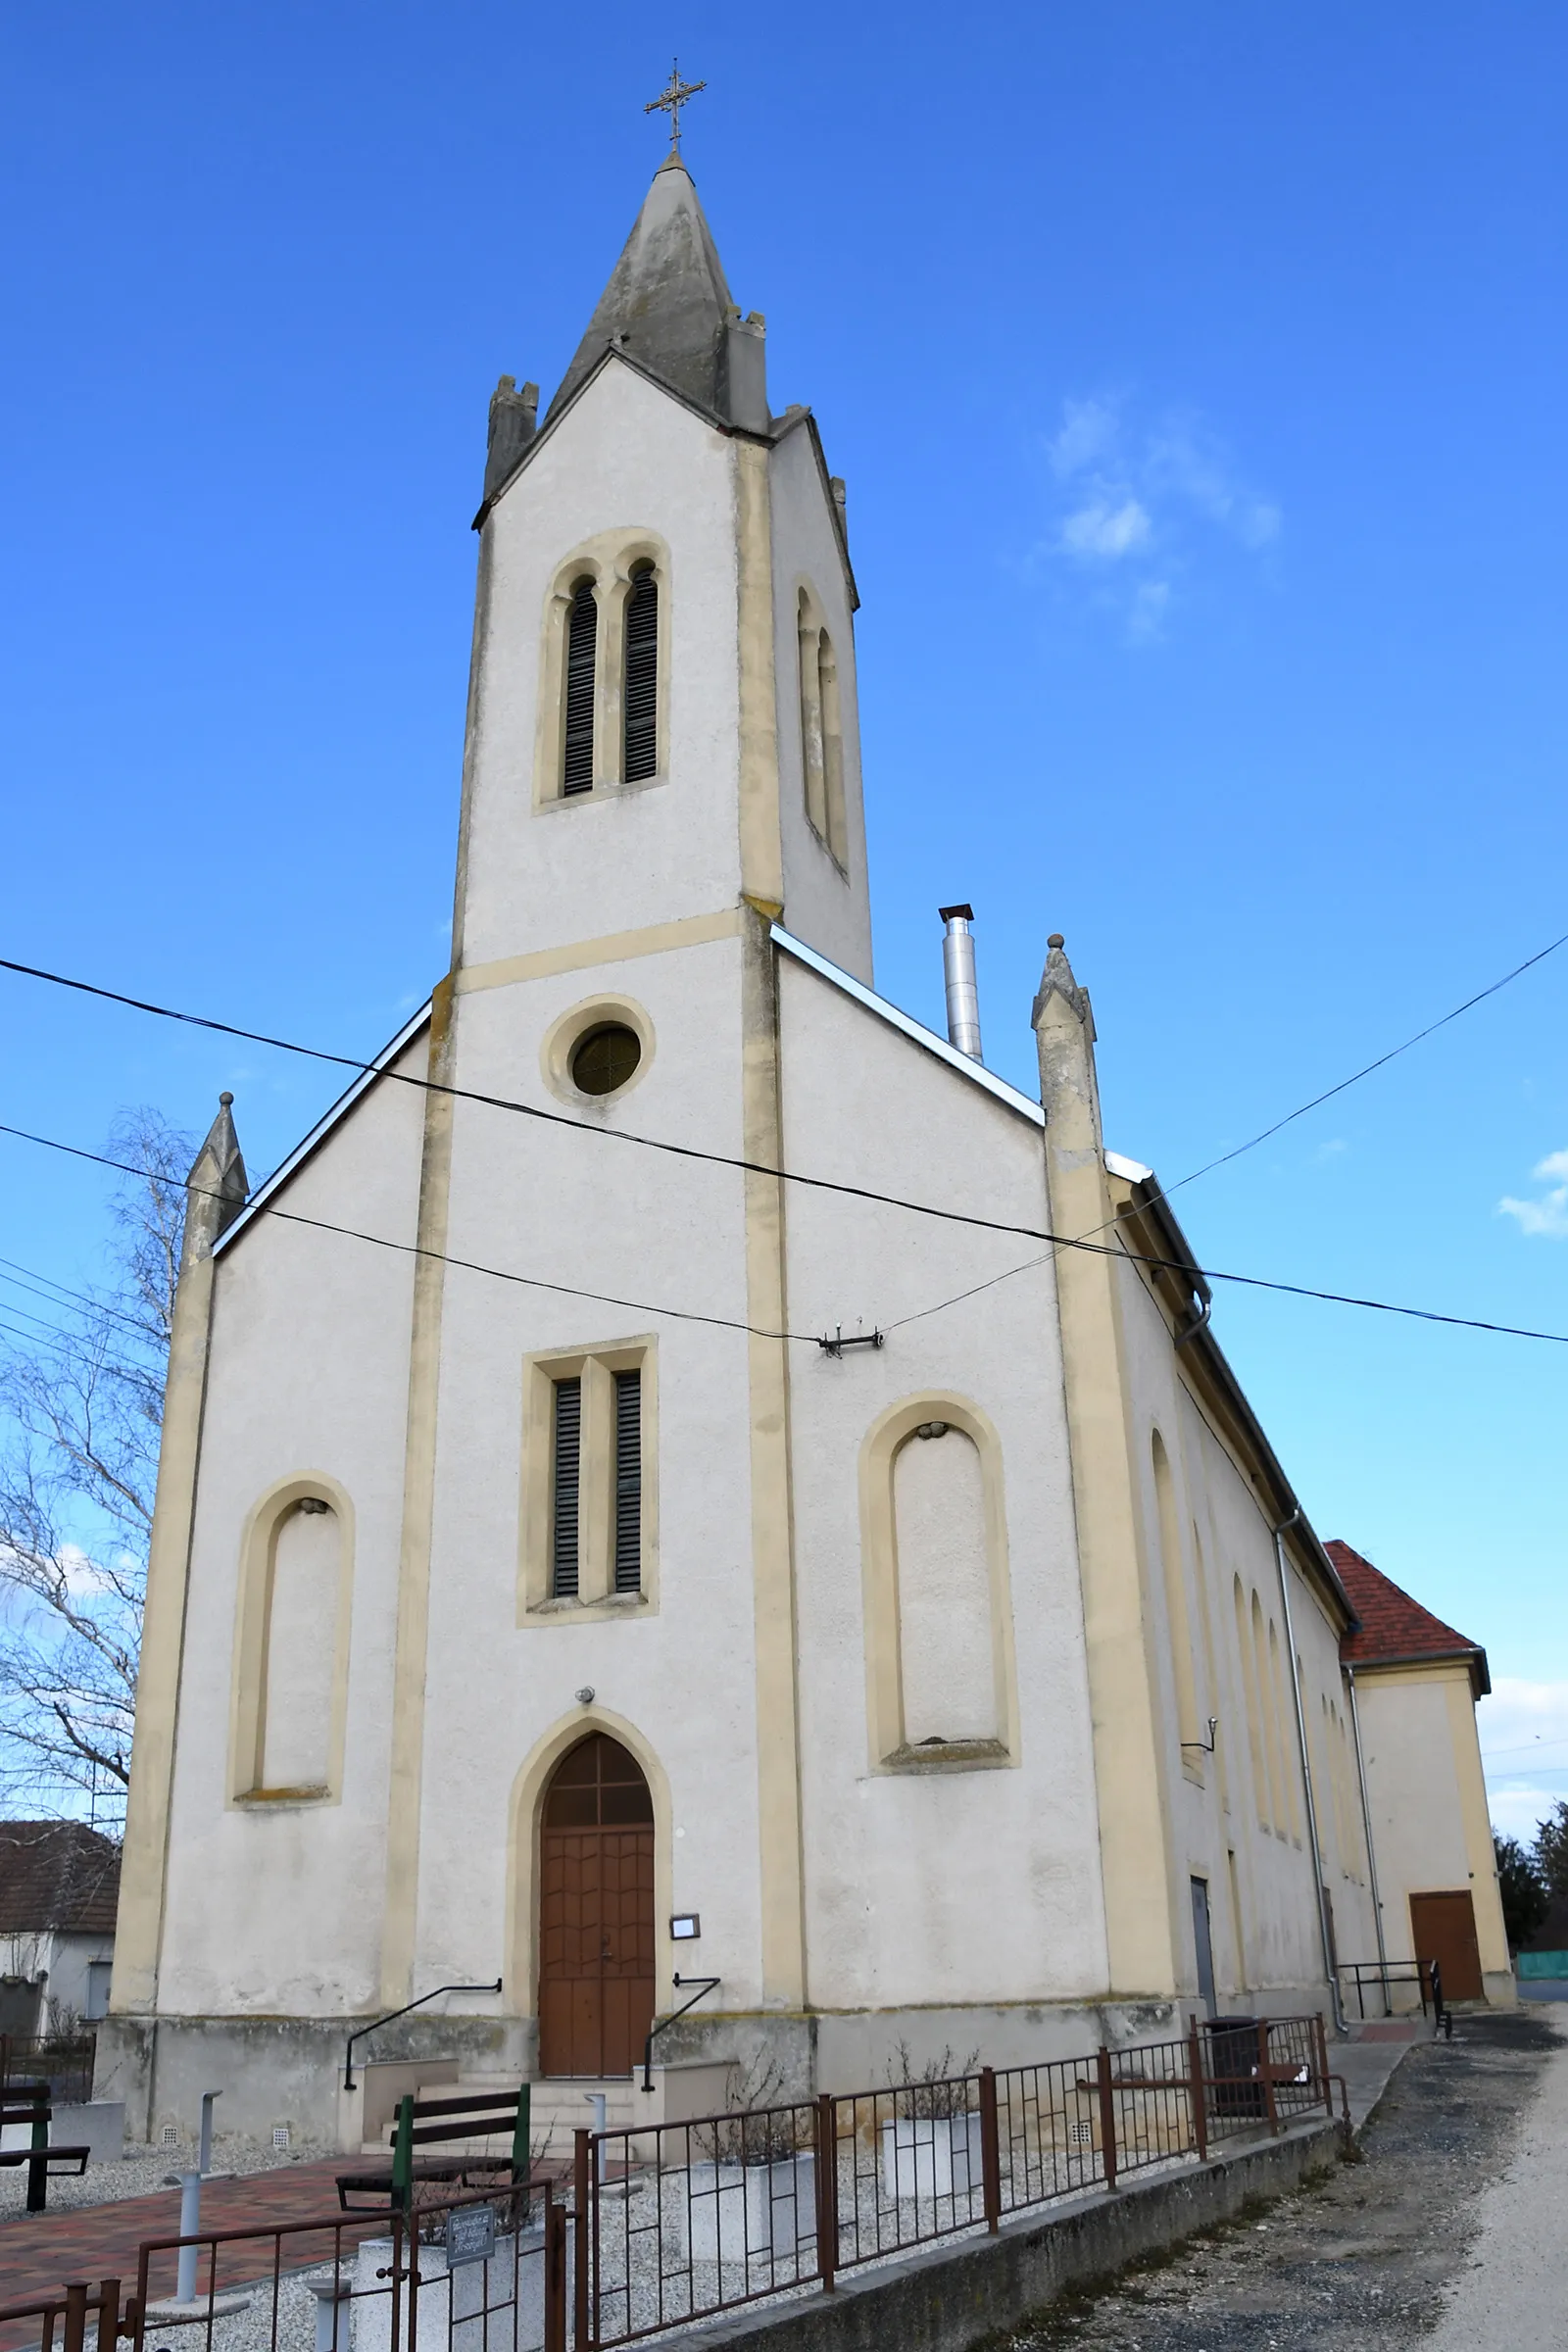
[[[947,1421],[980,1456],[985,1498],[985,1564],[990,1571],[992,1677],[999,1740],[964,1740],[952,1755],[922,1755],[907,1745],[903,1717],[903,1646],[898,1616],[898,1517],[893,1461],[922,1421]],[[865,1712],[870,1769],[994,1771],[1020,1762],[1018,1668],[1013,1658],[1013,1592],[1006,1543],[1006,1489],[997,1425],[969,1397],[929,1388],[882,1411],[860,1444],[860,1590],[865,1595]]]

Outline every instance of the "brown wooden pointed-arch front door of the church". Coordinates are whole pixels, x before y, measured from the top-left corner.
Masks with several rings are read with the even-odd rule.
[[[538,1830],[538,2072],[630,2074],[654,2023],[654,1797],[604,1731],[569,1748]]]

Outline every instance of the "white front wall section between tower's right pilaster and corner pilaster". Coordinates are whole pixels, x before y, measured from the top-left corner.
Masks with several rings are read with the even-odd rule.
[[[1034,1122],[790,960],[780,990],[790,1164],[1044,1223]],[[792,1327],[889,1334],[884,1348],[839,1359],[795,1350],[790,1395],[809,1994],[835,2037],[835,2065],[851,2072],[851,2053],[870,2063],[896,2016],[922,2046],[938,2011],[971,2016],[961,2046],[990,2049],[1016,2004],[1093,2002],[1107,1990],[1051,1268],[1032,1265],[900,1329],[903,1317],[1027,1258],[1039,1249],[1006,1235],[790,1192]],[[922,1423],[947,1423],[947,1435],[922,1439]],[[898,1604],[877,1623],[879,1576],[898,1585],[896,1524],[891,1557],[867,1559],[886,1541],[863,1510],[889,1477],[879,1430],[893,1439],[893,1489],[903,1444],[919,1454],[910,1477],[922,1494],[931,1479],[952,1486],[950,1501],[933,1489],[926,1503],[954,1515],[954,1606],[980,1604],[980,1585],[959,1564],[973,1548],[959,1524],[966,1482],[987,1489],[1001,1517],[990,1536],[1004,1552],[992,1583],[1004,1616],[987,1628],[999,1653],[990,1740],[940,1759],[922,1757],[917,1740],[893,1745],[898,1696],[877,1700],[882,1675],[893,1686],[903,1679],[912,1703],[912,1661],[893,1651],[900,1637],[917,1639],[907,1616],[898,1628]],[[954,1656],[971,1646],[954,1632]],[[954,1738],[964,1729],[954,1719]],[[961,2032],[952,2027],[954,2049]],[[1032,2032],[1039,2046],[1039,2018]]]

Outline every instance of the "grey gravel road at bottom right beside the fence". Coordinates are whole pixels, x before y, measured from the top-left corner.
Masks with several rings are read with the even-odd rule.
[[[1568,2009],[1458,2020],[1410,2049],[1361,2164],[992,2352],[1568,2352],[1566,2034]]]

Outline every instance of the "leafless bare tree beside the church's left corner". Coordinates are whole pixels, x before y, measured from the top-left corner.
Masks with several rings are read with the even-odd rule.
[[[127,1112],[106,1284],[0,1355],[0,1795],[125,1816],[162,1390],[193,1143]]]

